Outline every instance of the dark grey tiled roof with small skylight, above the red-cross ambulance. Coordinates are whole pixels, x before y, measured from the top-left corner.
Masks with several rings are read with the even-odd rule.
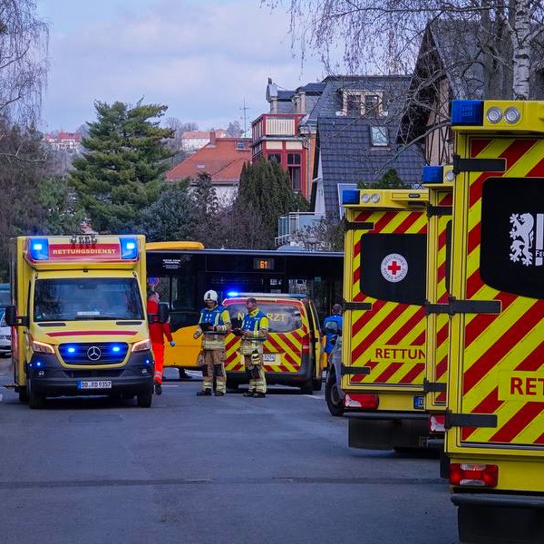
[[[385,127],[387,147],[371,145],[371,128]],[[396,170],[406,184],[421,183],[423,155],[414,146],[401,148],[394,143],[398,120],[365,117],[319,117],[318,147],[321,155],[325,212],[338,217],[338,183],[374,183],[387,170]]]

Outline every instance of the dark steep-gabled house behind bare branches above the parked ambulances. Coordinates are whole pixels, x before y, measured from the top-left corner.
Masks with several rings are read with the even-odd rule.
[[[452,162],[450,104],[454,99],[508,99],[511,69],[489,55],[478,22],[434,20],[425,28],[406,93],[399,141],[414,143],[427,164]],[[500,36],[493,36],[500,40]],[[533,42],[530,96],[544,98],[544,53]]]

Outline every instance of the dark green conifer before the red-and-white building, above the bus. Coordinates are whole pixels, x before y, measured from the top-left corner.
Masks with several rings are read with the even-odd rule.
[[[287,172],[274,160],[258,160],[242,167],[233,213],[238,236],[231,248],[275,248],[277,219],[289,211],[306,209],[306,201],[290,188]]]

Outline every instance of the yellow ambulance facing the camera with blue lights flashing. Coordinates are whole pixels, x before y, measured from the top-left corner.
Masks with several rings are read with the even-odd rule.
[[[144,237],[19,237],[10,250],[5,320],[19,399],[42,408],[52,396],[136,396],[151,406]]]

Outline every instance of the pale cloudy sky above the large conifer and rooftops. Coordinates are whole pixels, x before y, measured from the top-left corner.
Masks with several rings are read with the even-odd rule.
[[[37,0],[50,26],[44,131],[95,121],[94,101],[169,106],[201,130],[247,128],[279,89],[321,81],[318,61],[293,57],[289,16],[259,0]]]

